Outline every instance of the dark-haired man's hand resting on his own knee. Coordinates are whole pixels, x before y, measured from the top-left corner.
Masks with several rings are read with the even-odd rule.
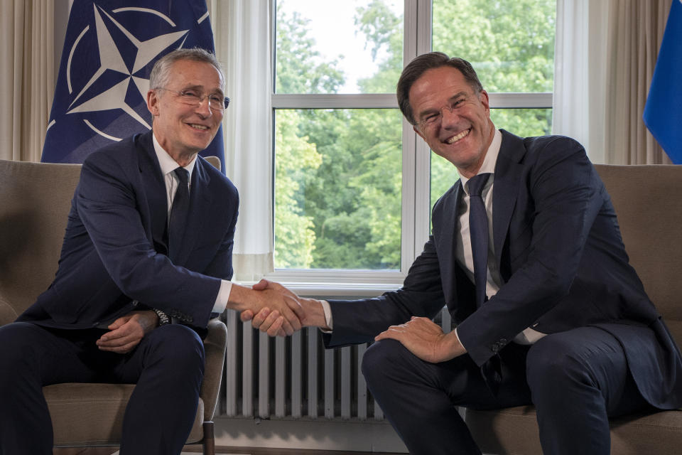
[[[443,329],[428,318],[412,316],[412,319],[404,324],[390,326],[374,340],[385,338],[400,341],[418,358],[431,363],[445,362],[467,352],[454,332],[445,335]]]

